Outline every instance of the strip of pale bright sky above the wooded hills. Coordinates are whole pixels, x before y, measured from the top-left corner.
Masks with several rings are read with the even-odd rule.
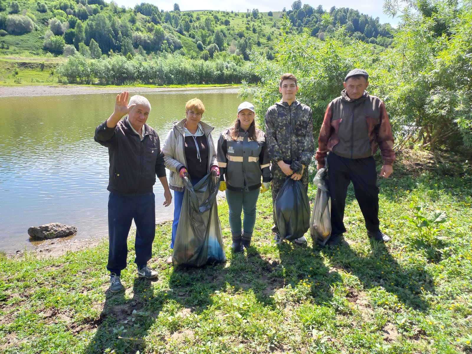
[[[221,10],[221,11],[239,11],[246,12],[249,8],[258,8],[260,12],[268,11],[282,11],[285,7],[287,10],[292,8],[293,0],[282,1],[282,0],[115,0],[118,3],[118,6],[126,6],[128,8],[134,8],[137,3],[148,2],[153,5],[156,5],[159,9],[164,11],[170,11],[174,9],[174,4],[177,3],[180,7],[180,11],[190,11],[190,10]],[[354,8],[359,10],[363,14],[372,16],[373,18],[379,17],[380,23],[389,23],[392,26],[396,27],[398,23],[398,18],[388,17],[383,13],[383,1],[382,0],[362,0],[354,1],[353,0],[310,0],[303,1],[302,5],[308,4],[314,8],[317,8],[318,5],[323,6],[325,10],[329,10],[331,7],[336,6],[336,8]]]

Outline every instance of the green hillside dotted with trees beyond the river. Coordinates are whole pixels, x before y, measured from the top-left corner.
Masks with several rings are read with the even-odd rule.
[[[149,3],[135,8],[118,7],[103,0],[13,0],[0,5],[0,53],[70,56],[79,51],[84,57],[120,53],[127,56],[171,52],[191,59],[213,58],[226,51],[248,60],[247,51],[257,49],[274,58],[272,42],[283,33],[280,18],[286,15],[294,25],[293,33],[307,28],[324,39],[337,24],[346,25],[351,35],[362,41],[388,46],[394,30],[359,11],[321,6],[312,8],[301,0],[292,9],[261,13],[163,11]],[[290,34],[289,34],[290,35]]]

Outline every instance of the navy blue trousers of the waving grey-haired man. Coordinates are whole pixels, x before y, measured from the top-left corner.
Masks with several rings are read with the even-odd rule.
[[[126,268],[131,221],[135,219],[135,263],[145,265],[152,256],[152,241],[156,233],[154,193],[125,196],[110,192],[108,198],[108,237],[110,241],[107,269],[118,276]]]

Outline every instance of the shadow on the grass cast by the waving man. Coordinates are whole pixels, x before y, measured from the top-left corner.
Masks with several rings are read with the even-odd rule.
[[[151,295],[150,295],[151,294]],[[133,297],[126,299],[125,292],[107,290],[99,327],[85,349],[87,354],[135,353],[143,350],[143,338],[162,309],[165,295],[153,292],[152,281],[136,278]]]

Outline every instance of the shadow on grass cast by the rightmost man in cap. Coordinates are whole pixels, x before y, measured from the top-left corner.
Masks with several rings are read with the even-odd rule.
[[[381,287],[395,294],[400,303],[422,312],[427,311],[428,302],[421,293],[434,294],[431,275],[418,265],[410,268],[400,266],[385,244],[373,240],[370,243],[371,253],[367,257],[359,255],[347,244],[323,248],[320,252],[333,264],[359,278],[364,288]]]

